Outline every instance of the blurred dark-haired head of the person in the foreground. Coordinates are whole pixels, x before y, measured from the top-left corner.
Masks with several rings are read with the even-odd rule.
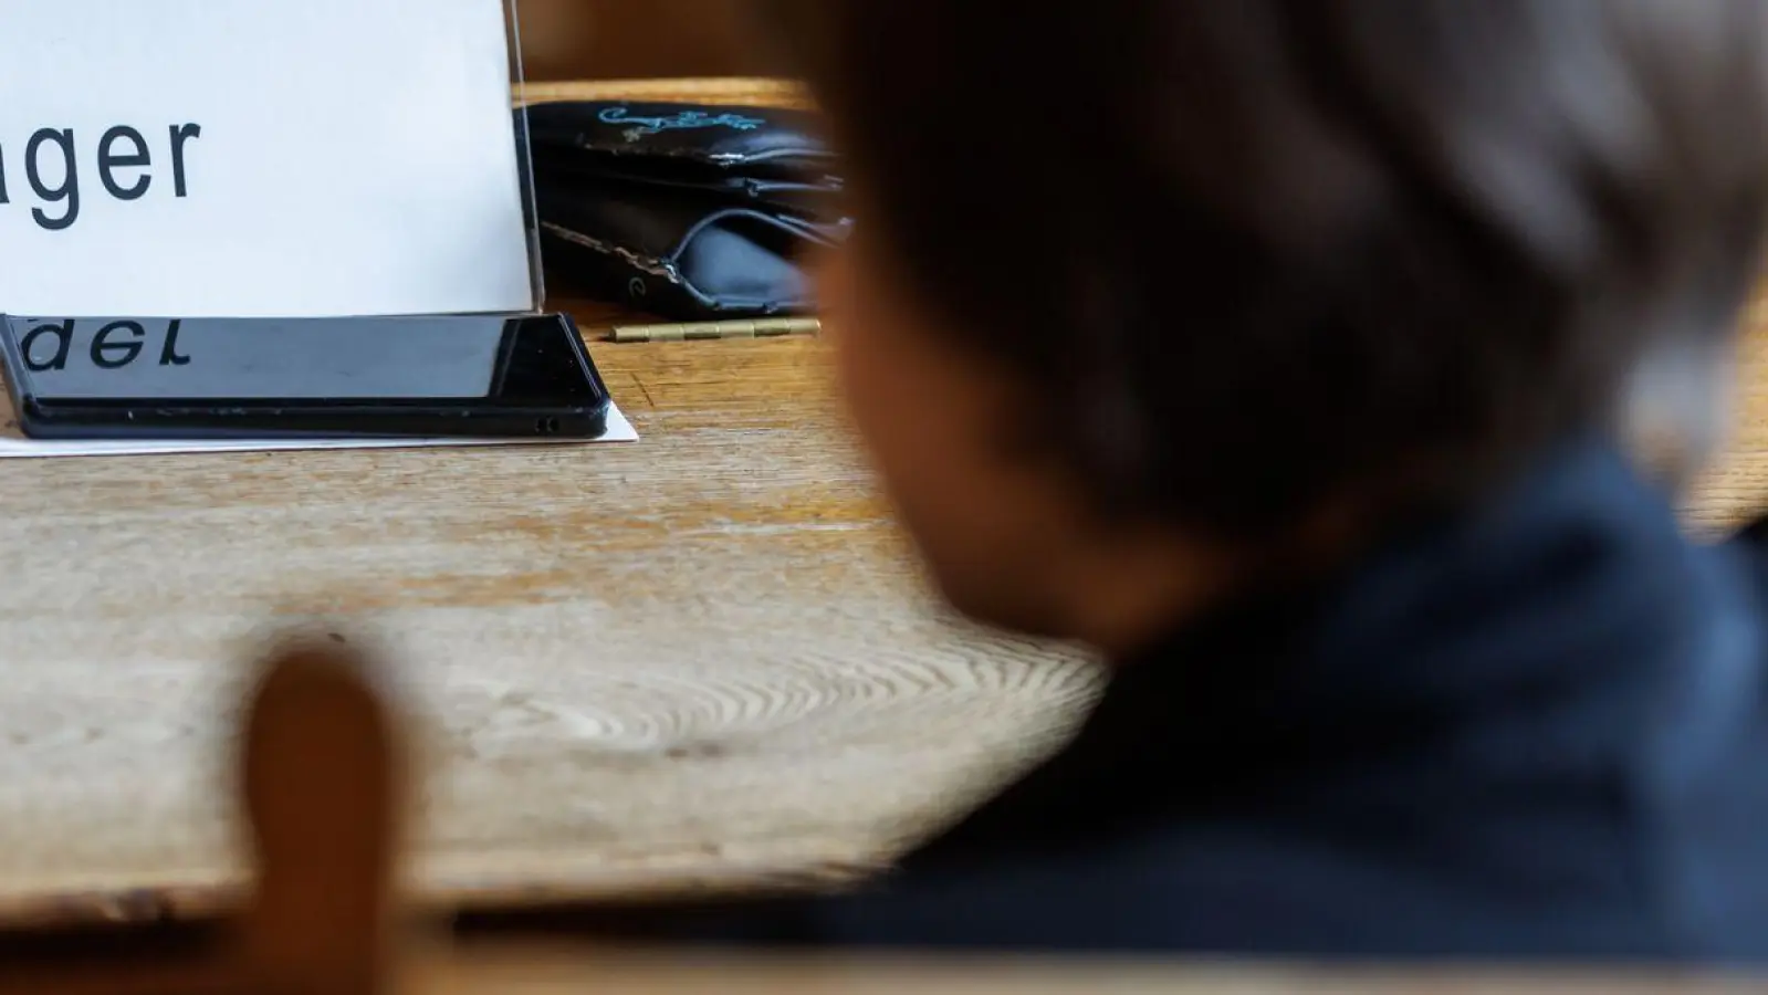
[[[854,419],[964,611],[1132,649],[1711,352],[1763,0],[801,0]]]

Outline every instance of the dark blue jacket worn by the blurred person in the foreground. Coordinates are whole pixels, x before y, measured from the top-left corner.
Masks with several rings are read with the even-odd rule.
[[[677,938],[1768,965],[1763,562],[1602,445],[1121,661],[900,873]]]

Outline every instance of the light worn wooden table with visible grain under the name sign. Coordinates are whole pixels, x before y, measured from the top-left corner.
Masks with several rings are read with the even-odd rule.
[[[842,880],[1059,744],[1098,673],[939,615],[822,343],[592,352],[640,444],[0,461],[0,923],[226,898],[225,709],[288,626],[400,661],[447,905]],[[1745,410],[1699,525],[1768,491]]]

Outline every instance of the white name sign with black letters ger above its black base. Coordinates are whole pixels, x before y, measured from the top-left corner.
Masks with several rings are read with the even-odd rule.
[[[523,311],[502,0],[0,0],[0,313]]]

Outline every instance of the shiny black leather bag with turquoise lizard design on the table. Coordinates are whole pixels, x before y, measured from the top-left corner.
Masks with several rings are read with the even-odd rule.
[[[813,122],[663,103],[527,108],[546,269],[677,322],[812,311],[801,260],[849,228]]]

